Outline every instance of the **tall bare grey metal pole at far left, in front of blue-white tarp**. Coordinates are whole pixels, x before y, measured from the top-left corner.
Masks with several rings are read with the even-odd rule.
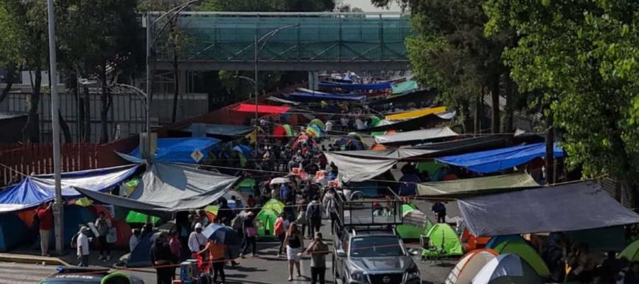
[[[47,1],[49,21],[49,87],[51,90],[51,129],[53,132],[53,176],[55,178],[55,251],[62,254],[64,249],[63,219],[62,219],[62,186],[60,185],[60,101],[58,100],[58,63],[55,58],[55,13],[53,0]]]

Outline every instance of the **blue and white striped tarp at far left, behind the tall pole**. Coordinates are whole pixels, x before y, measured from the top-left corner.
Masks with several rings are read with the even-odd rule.
[[[82,170],[62,173],[62,198],[70,200],[81,197],[75,188],[102,192],[124,182],[138,170],[138,165],[123,165],[113,168]],[[53,175],[31,175],[17,185],[0,192],[0,212],[13,212],[37,207],[55,197]]]

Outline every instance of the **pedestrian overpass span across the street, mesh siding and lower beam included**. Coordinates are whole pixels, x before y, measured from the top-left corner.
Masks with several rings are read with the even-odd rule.
[[[408,14],[182,12],[187,33],[178,61],[183,70],[406,70]],[[285,27],[285,28],[283,28]],[[158,44],[155,68],[170,70],[167,48]]]

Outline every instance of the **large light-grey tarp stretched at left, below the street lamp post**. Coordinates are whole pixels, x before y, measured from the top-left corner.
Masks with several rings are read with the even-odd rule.
[[[80,190],[104,204],[135,209],[158,217],[205,207],[222,197],[238,178],[192,167],[154,163],[129,198]]]

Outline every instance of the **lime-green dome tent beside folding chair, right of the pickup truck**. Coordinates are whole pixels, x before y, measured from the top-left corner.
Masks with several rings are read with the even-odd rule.
[[[461,256],[464,250],[461,249],[461,241],[455,234],[455,230],[449,224],[435,224],[426,233],[429,249],[422,249],[422,256]]]

